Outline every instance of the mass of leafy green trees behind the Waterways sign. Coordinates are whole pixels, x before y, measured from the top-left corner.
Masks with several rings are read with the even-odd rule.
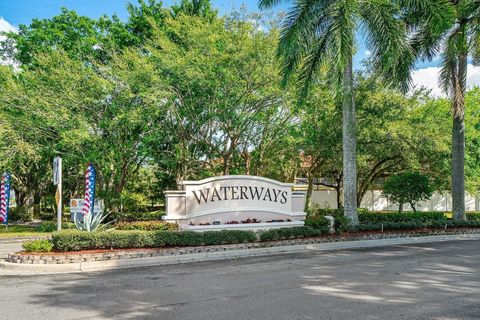
[[[1,44],[17,65],[0,66],[0,171],[12,173],[21,210],[51,210],[55,156],[66,198],[82,195],[92,162],[98,197],[119,214],[154,209],[182,180],[219,174],[304,177],[310,193],[320,184],[341,194],[342,91],[327,68],[303,99],[301,86],[282,85],[275,19],[220,17],[208,1],[139,1],[128,12],[121,21],[63,9]],[[358,204],[401,172],[448,189],[449,101],[405,94],[372,72],[352,77]],[[479,88],[466,93],[470,192],[480,186],[479,103]]]

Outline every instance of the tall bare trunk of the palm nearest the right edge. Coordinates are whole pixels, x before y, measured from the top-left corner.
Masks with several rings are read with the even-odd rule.
[[[455,220],[466,220],[465,215],[465,79],[467,56],[459,57],[458,73],[453,79],[452,129],[452,212]]]

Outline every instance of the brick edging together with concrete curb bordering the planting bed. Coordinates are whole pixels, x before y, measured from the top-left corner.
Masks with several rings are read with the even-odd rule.
[[[422,232],[343,234],[340,236],[229,245],[119,249],[101,250],[101,252],[19,253],[10,254],[6,261],[0,262],[0,269],[10,274],[87,272],[305,251],[369,248],[460,239],[480,239],[480,229],[433,231],[428,234]]]

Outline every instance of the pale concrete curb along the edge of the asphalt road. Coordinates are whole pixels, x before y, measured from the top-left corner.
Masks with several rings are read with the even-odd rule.
[[[171,256],[155,256],[134,259],[119,259],[105,261],[87,261],[65,264],[22,264],[0,261],[0,275],[42,275],[59,273],[80,273],[104,271],[114,269],[127,269],[151,267],[191,262],[206,262],[228,260],[247,257],[261,257],[288,253],[301,253],[309,251],[334,251],[349,249],[364,249],[386,247],[405,244],[419,244],[429,242],[443,242],[456,240],[480,240],[480,234],[439,235],[424,237],[404,237],[379,240],[339,241],[316,244],[301,244],[279,247],[238,249],[220,252],[189,253]]]

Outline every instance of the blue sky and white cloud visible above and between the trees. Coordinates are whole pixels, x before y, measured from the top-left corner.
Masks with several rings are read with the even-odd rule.
[[[116,14],[120,19],[127,19],[126,5],[137,0],[0,0],[0,31],[14,31],[20,24],[29,24],[34,18],[51,18],[60,12],[61,7],[75,10],[80,15],[98,18],[104,14]],[[164,0],[165,6],[174,4],[175,0]],[[211,0],[212,6],[221,15],[228,15],[234,10],[246,6],[248,11],[258,12],[258,0]],[[281,4],[276,12],[288,11],[288,4]],[[370,51],[365,47],[363,35],[359,34],[359,47],[354,57],[355,68],[361,68],[361,61],[368,57]],[[0,41],[2,37],[0,36]],[[412,74],[415,86],[424,86],[432,90],[435,96],[442,95],[438,86],[438,59],[418,62],[417,70]],[[480,86],[480,67],[468,67],[467,85]]]

